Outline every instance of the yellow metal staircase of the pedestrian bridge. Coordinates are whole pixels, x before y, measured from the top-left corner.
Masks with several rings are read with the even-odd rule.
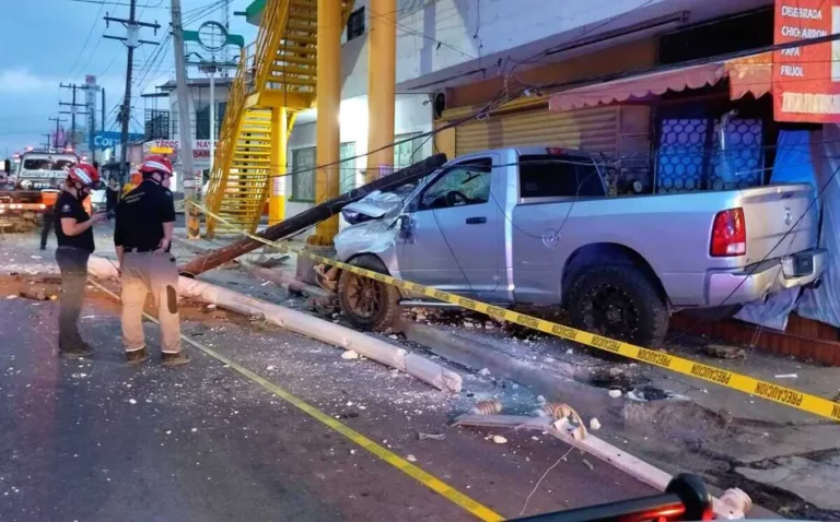
[[[332,1],[341,9],[343,28],[353,0]],[[229,223],[208,216],[209,237],[234,228],[256,230],[270,176],[284,167],[279,149],[298,112],[315,105],[317,33],[317,0],[266,1],[257,39],[240,56],[207,191],[207,206]]]

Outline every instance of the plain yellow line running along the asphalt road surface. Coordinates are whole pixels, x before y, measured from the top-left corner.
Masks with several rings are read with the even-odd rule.
[[[94,284],[98,289],[104,292],[105,294],[108,294],[110,297],[119,300],[119,296],[110,292],[105,286],[101,285],[100,283],[90,280],[91,283]],[[158,320],[143,312],[143,316],[158,324]],[[187,337],[186,335],[180,336],[184,341],[191,344],[196,348],[200,349],[201,352],[206,353],[210,357],[219,360],[220,363],[223,363],[231,367],[234,371],[242,375],[243,377],[246,377],[253,382],[256,382],[264,389],[268,390],[269,392],[273,393],[275,395],[279,396],[280,399],[287,401],[298,410],[302,411],[303,413],[310,415],[311,417],[315,418],[316,420],[320,422],[325,426],[329,427],[330,429],[338,431],[339,434],[343,435],[348,439],[350,439],[353,443],[360,446],[361,448],[370,451],[374,455],[378,456],[381,460],[387,462],[392,466],[396,467],[397,470],[401,471],[406,475],[410,476],[415,481],[419,482],[423,486],[428,487],[429,489],[433,490],[438,495],[441,495],[442,497],[446,498],[451,502],[455,503],[459,508],[468,511],[469,513],[474,514],[479,520],[483,520],[487,522],[497,522],[504,520],[504,518],[497,513],[495,511],[491,510],[490,508],[477,502],[476,500],[472,500],[471,498],[467,497],[463,493],[458,491],[454,487],[450,486],[445,482],[441,481],[440,478],[435,477],[434,475],[427,473],[425,471],[421,470],[420,467],[411,464],[407,460],[402,459],[398,454],[394,453],[393,451],[377,444],[373,440],[369,439],[368,437],[363,436],[359,431],[350,428],[349,426],[340,423],[339,420],[335,419],[334,417],[327,415],[326,413],[322,412],[320,410],[316,408],[315,406],[311,405],[303,399],[298,398],[296,395],[292,394],[291,392],[287,391],[285,389],[275,384],[273,382],[269,381],[268,379],[265,379],[264,377],[259,376],[258,373],[255,373],[254,371],[245,368],[241,364],[225,357],[224,355],[215,352],[214,349],[205,346],[203,344]]]

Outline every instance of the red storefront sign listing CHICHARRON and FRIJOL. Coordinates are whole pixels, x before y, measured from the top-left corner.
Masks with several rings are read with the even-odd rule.
[[[840,0],[775,0],[774,43],[840,32]],[[840,40],[773,55],[777,121],[840,122]]]

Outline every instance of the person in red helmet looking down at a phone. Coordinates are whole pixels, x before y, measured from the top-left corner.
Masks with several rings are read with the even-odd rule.
[[[96,167],[85,163],[75,164],[68,169],[65,187],[56,200],[56,262],[61,271],[58,349],[63,357],[79,358],[93,354],[90,345],[79,334],[79,315],[88,281],[88,258],[95,248],[92,227],[106,216],[89,215],[82,202],[98,182],[100,173]]]

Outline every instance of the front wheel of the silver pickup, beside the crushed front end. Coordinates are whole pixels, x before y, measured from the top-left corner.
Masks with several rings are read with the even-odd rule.
[[[385,263],[375,256],[360,256],[350,264],[388,273]],[[343,271],[338,280],[338,301],[350,323],[361,330],[384,332],[399,319],[399,290],[376,280]]]

